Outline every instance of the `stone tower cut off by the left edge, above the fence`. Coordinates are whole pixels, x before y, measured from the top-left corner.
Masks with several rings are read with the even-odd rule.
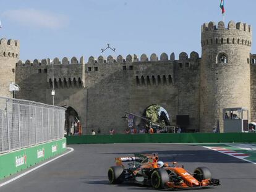
[[[12,97],[9,84],[15,82],[15,64],[20,57],[18,40],[0,40],[0,96]]]

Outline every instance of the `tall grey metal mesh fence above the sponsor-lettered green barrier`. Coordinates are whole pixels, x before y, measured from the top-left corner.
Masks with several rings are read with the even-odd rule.
[[[0,97],[0,153],[63,138],[65,110]]]

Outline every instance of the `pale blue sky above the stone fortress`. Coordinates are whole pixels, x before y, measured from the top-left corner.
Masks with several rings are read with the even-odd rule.
[[[229,20],[255,27],[256,1],[224,0]],[[8,0],[0,37],[20,40],[20,59],[98,57],[106,43],[116,56],[197,51],[200,28],[222,19],[220,0]],[[252,46],[252,53],[256,47]],[[106,51],[103,56],[114,54]]]

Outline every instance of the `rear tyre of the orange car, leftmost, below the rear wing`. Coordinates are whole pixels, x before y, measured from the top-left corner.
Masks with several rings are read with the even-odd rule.
[[[113,166],[108,169],[108,180],[112,184],[124,182],[124,167]]]

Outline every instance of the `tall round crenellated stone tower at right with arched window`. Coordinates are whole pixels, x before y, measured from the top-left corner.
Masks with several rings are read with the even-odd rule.
[[[209,132],[222,110],[247,107],[250,113],[250,49],[252,28],[246,23],[204,23],[200,66],[200,131]],[[249,116],[250,117],[250,116]]]

